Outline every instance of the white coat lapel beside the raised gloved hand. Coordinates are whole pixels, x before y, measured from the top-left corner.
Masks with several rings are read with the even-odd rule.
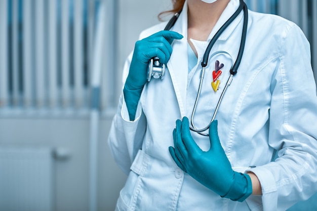
[[[188,75],[188,56],[187,56],[187,2],[184,4],[175,25],[171,29],[184,36],[181,40],[174,40],[173,52],[167,67],[169,69],[175,94],[177,97],[181,117],[186,115],[186,89]]]

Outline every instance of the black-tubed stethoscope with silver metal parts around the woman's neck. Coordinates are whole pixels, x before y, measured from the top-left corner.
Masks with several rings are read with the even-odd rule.
[[[197,102],[199,100],[200,94],[201,94],[201,89],[202,89],[202,85],[203,85],[203,79],[204,79],[204,74],[205,74],[205,70],[206,70],[206,66],[208,64],[208,58],[209,58],[209,53],[212,49],[212,47],[214,46],[214,44],[216,43],[217,39],[219,38],[219,36],[222,34],[222,32],[230,25],[230,23],[232,23],[232,21],[241,13],[241,11],[243,10],[244,12],[244,23],[243,23],[243,29],[242,29],[242,36],[241,36],[241,43],[240,43],[240,49],[239,49],[239,53],[237,55],[237,58],[234,62],[234,64],[231,66],[230,68],[230,76],[226,82],[226,85],[220,95],[219,101],[217,103],[216,109],[214,111],[214,114],[212,116],[211,121],[209,122],[209,124],[203,128],[203,129],[197,129],[194,125],[194,115],[195,115],[195,111],[196,111],[196,107],[197,107]],[[179,11],[178,13],[176,13],[171,20],[168,22],[168,24],[166,25],[164,30],[170,30],[172,28],[172,26],[175,24],[177,18],[179,17],[179,14],[181,13],[181,11]],[[230,85],[230,83],[232,82],[233,76],[237,73],[237,69],[240,66],[241,60],[242,60],[242,56],[243,56],[243,51],[245,48],[245,44],[246,44],[246,36],[247,36],[247,27],[248,27],[248,8],[247,5],[244,3],[243,0],[240,0],[240,6],[239,8],[234,12],[234,14],[221,26],[221,28],[217,31],[217,33],[214,35],[214,37],[211,39],[210,43],[208,44],[208,47],[205,51],[204,57],[203,57],[203,61],[202,61],[202,70],[201,70],[201,79],[200,79],[200,85],[199,85],[199,89],[197,92],[197,96],[196,96],[196,100],[195,100],[195,104],[193,107],[193,111],[191,114],[191,120],[190,120],[190,130],[197,132],[203,136],[209,136],[209,134],[203,133],[205,131],[207,131],[209,129],[210,124],[214,121],[215,116],[217,114],[217,111],[219,109],[220,103],[222,101],[222,98],[224,96],[224,93],[226,92],[228,86]],[[224,51],[218,51],[215,52],[213,55],[211,55],[210,57],[215,56],[216,54],[227,54],[230,58],[231,56]],[[232,60],[232,58],[231,58]],[[159,62],[159,58],[154,57],[149,61],[149,65],[148,65],[148,72],[147,72],[147,80],[150,81],[151,77],[153,78],[164,78],[164,74],[165,74],[165,64],[161,64]]]

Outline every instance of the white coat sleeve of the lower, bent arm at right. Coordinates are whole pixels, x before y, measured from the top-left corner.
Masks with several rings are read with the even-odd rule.
[[[286,210],[317,191],[317,97],[310,47],[293,25],[272,76],[269,145],[278,158],[252,169],[261,183],[263,210]]]

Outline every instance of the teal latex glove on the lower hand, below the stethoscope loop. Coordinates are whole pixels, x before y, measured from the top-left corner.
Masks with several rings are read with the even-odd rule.
[[[169,147],[176,164],[196,181],[221,197],[244,201],[252,194],[251,178],[232,170],[220,144],[217,120],[209,128],[210,149],[203,151],[192,139],[188,118],[176,121],[173,131],[174,147]]]

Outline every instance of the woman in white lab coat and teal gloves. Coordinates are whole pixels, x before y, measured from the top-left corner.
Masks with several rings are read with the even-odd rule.
[[[309,44],[294,23],[241,12],[201,62],[239,0],[174,1],[182,8],[143,31],[124,68],[124,89],[110,134],[112,154],[129,174],[116,210],[286,210],[317,190],[317,97]],[[190,132],[212,119],[247,39],[209,136]],[[167,65],[147,82],[148,61]],[[176,126],[175,126],[176,121]]]

